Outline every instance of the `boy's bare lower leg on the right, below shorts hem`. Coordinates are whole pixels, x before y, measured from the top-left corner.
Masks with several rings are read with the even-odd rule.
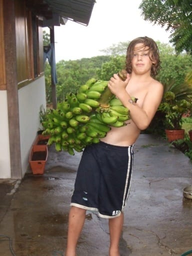
[[[115,218],[109,218],[109,232],[110,232],[110,247],[109,256],[120,256],[119,240],[122,232],[123,213]]]

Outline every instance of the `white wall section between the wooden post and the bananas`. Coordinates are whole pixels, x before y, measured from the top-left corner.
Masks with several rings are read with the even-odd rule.
[[[39,110],[46,108],[44,76],[18,90],[22,176],[29,168],[29,152],[40,128]]]

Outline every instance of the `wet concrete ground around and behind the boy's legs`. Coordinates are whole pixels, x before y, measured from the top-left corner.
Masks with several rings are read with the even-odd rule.
[[[180,256],[192,249],[192,200],[182,195],[192,184],[192,164],[165,140],[146,134],[134,153],[121,256]],[[0,180],[0,256],[64,255],[80,156],[51,146],[43,175],[28,170],[22,181]],[[87,212],[77,256],[107,256],[108,243],[107,220]]]

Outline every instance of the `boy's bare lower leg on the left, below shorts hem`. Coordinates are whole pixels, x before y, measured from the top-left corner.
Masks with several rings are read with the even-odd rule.
[[[82,230],[86,210],[71,206],[68,214],[68,234],[65,256],[75,256],[76,244]]]

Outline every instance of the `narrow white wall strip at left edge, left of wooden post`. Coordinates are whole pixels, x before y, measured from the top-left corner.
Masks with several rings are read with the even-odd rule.
[[[0,90],[0,178],[10,178],[10,152],[6,90]]]

